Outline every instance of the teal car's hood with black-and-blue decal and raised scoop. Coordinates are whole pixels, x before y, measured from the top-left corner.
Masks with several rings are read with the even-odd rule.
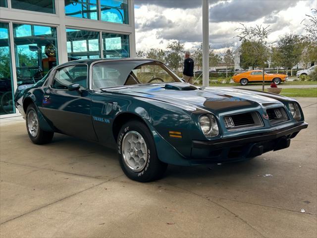
[[[226,87],[197,88],[186,83],[137,85],[106,91],[159,100],[183,107],[207,109],[218,113],[237,108],[258,107],[264,102],[278,103],[279,100],[286,99],[283,96],[261,91]]]

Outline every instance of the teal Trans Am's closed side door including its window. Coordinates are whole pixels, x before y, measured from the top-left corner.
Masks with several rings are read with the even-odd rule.
[[[60,132],[97,140],[91,118],[91,91],[87,90],[88,65],[73,64],[57,68],[44,94],[43,114]],[[71,84],[80,84],[70,91]]]

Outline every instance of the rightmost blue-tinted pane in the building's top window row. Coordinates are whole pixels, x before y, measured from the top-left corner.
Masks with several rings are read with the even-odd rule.
[[[129,24],[128,0],[100,0],[101,20]]]

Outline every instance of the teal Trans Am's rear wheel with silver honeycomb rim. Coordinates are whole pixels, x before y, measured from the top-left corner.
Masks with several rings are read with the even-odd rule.
[[[29,137],[34,144],[47,144],[51,142],[54,135],[54,132],[41,129],[39,116],[33,104],[30,104],[26,110],[26,128]]]

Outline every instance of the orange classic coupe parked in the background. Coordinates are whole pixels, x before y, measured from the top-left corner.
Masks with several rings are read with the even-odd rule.
[[[242,73],[238,73],[232,76],[232,80],[235,83],[240,83],[241,85],[247,85],[248,83],[262,82],[263,80],[263,70],[249,70]],[[266,73],[264,72],[265,82],[274,82],[280,84],[287,80],[286,74],[281,73]]]

